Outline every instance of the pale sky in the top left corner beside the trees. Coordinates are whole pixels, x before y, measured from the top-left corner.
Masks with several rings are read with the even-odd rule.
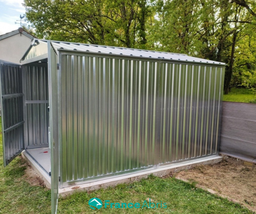
[[[24,0],[0,0],[0,35],[16,30],[20,27],[20,15],[25,14]],[[23,22],[25,23],[25,22]]]

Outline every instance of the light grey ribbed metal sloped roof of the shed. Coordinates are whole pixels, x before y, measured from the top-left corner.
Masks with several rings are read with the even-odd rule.
[[[73,51],[92,52],[92,53],[99,53],[99,54],[102,53],[102,54],[132,56],[132,57],[138,57],[138,58],[142,57],[142,58],[152,58],[152,59],[165,59],[170,61],[177,60],[177,61],[183,61],[183,62],[185,61],[185,62],[192,62],[192,63],[209,63],[209,64],[225,65],[225,63],[211,61],[207,59],[201,59],[201,58],[192,57],[186,54],[179,54],[179,53],[169,53],[169,52],[161,52],[161,51],[153,51],[153,50],[120,48],[120,47],[90,45],[90,44],[81,44],[81,43],[60,42],[60,41],[51,41],[51,43],[53,47],[56,49],[56,51],[73,50]],[[47,44],[47,40],[34,39],[31,45],[33,46],[33,44],[45,45]]]

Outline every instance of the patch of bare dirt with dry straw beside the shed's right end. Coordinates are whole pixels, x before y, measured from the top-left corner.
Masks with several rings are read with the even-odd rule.
[[[221,162],[181,171],[175,177],[215,190],[256,212],[256,168]]]

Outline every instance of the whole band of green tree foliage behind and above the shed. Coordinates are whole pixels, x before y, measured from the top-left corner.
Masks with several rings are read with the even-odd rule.
[[[186,53],[256,87],[254,0],[25,0],[38,38]]]

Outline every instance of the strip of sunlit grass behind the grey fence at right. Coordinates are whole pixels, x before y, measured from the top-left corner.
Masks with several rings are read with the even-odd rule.
[[[256,103],[256,94],[249,89],[231,88],[231,92],[223,96],[223,101]]]

